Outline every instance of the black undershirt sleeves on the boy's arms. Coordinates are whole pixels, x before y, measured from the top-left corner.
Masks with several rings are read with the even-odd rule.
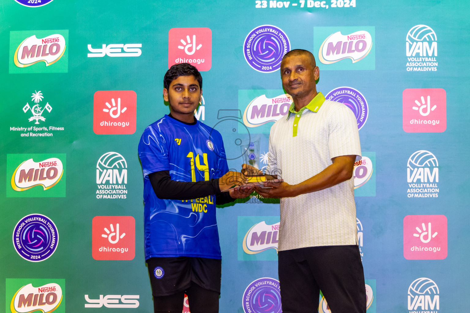
[[[149,174],[153,191],[160,199],[191,200],[215,195],[215,203],[223,205],[234,201],[228,191],[220,192],[219,178],[199,182],[177,182],[171,179],[170,171]]]

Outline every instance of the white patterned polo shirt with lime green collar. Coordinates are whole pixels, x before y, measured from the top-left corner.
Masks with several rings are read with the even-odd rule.
[[[357,121],[344,104],[317,96],[299,112],[294,104],[269,135],[266,174],[297,184],[315,176],[341,155],[361,159]],[[354,179],[333,187],[281,198],[279,251],[357,244]]]

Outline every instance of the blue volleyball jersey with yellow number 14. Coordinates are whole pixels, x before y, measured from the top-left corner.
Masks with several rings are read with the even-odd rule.
[[[220,259],[215,195],[183,201],[160,199],[148,176],[164,170],[180,182],[223,176],[228,166],[220,133],[199,121],[187,125],[165,115],[144,130],[139,157],[144,176],[145,260]]]

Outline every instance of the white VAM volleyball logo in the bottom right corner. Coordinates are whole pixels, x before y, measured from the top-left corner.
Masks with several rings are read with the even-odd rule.
[[[439,311],[438,285],[426,277],[415,279],[408,287],[408,310]]]

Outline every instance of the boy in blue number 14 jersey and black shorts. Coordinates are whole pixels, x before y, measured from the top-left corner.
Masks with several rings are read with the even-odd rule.
[[[154,311],[181,313],[184,294],[192,313],[219,312],[221,254],[216,204],[253,189],[228,171],[222,137],[194,117],[202,77],[188,64],[164,76],[170,114],[147,127],[139,143],[144,176],[145,260]]]

